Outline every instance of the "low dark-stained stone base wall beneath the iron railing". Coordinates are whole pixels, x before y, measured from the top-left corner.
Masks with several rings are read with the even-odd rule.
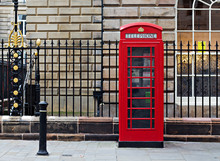
[[[47,139],[63,141],[118,141],[118,118],[47,117]],[[0,117],[0,139],[38,140],[39,117]],[[220,142],[218,118],[164,120],[165,141]]]

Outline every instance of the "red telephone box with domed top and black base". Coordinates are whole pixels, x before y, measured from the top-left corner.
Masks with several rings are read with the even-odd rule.
[[[162,28],[120,28],[119,147],[163,147],[164,51]]]

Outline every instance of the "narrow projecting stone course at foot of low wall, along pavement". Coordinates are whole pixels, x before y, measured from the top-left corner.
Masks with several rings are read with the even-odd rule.
[[[47,134],[47,140],[56,141],[118,141],[118,134]],[[38,140],[38,133],[2,133],[0,139]],[[219,135],[164,135],[164,141],[220,142]]]

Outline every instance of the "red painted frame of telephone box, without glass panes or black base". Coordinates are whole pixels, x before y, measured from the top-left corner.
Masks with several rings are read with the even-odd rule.
[[[138,32],[138,29],[142,27],[144,32]],[[144,34],[154,33],[157,34],[157,39],[147,38],[125,38],[125,34]],[[130,50],[130,56],[127,54],[128,48]],[[132,47],[149,47],[150,56],[132,56]],[[152,48],[154,47],[154,56],[152,56]],[[141,67],[136,66],[135,68],[154,68],[155,75],[152,77],[152,70],[150,70],[150,77],[128,77],[128,58],[153,58],[155,66]],[[131,61],[131,59],[130,59]],[[152,65],[152,60],[151,60]],[[150,87],[128,87],[128,78],[154,78],[154,87],[152,87],[152,81]],[[121,40],[119,44],[119,141],[163,141],[163,127],[164,127],[164,114],[163,114],[163,80],[164,80],[164,52],[163,52],[163,41],[162,41],[162,28],[160,26],[149,24],[149,23],[133,23],[121,27]],[[130,82],[132,80],[130,79]],[[135,108],[135,109],[154,109],[155,119],[152,119],[152,112],[150,118],[132,118],[130,112],[130,118],[128,118],[128,89],[155,89],[155,97],[152,97],[152,90],[150,97],[135,97],[135,99],[155,99],[154,108],[150,104],[149,108]],[[130,91],[131,93],[132,91]],[[132,96],[132,94],[130,95]],[[132,98],[131,98],[132,99]],[[131,103],[130,103],[131,104]],[[131,105],[132,106],[132,105]],[[134,109],[134,108],[133,108]],[[127,120],[155,120],[154,128],[150,124],[150,128],[128,128]],[[131,125],[132,126],[132,125]]]

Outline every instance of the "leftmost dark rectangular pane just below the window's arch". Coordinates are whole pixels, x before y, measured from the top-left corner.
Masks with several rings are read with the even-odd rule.
[[[177,23],[178,30],[192,30],[192,11],[178,11]]]

